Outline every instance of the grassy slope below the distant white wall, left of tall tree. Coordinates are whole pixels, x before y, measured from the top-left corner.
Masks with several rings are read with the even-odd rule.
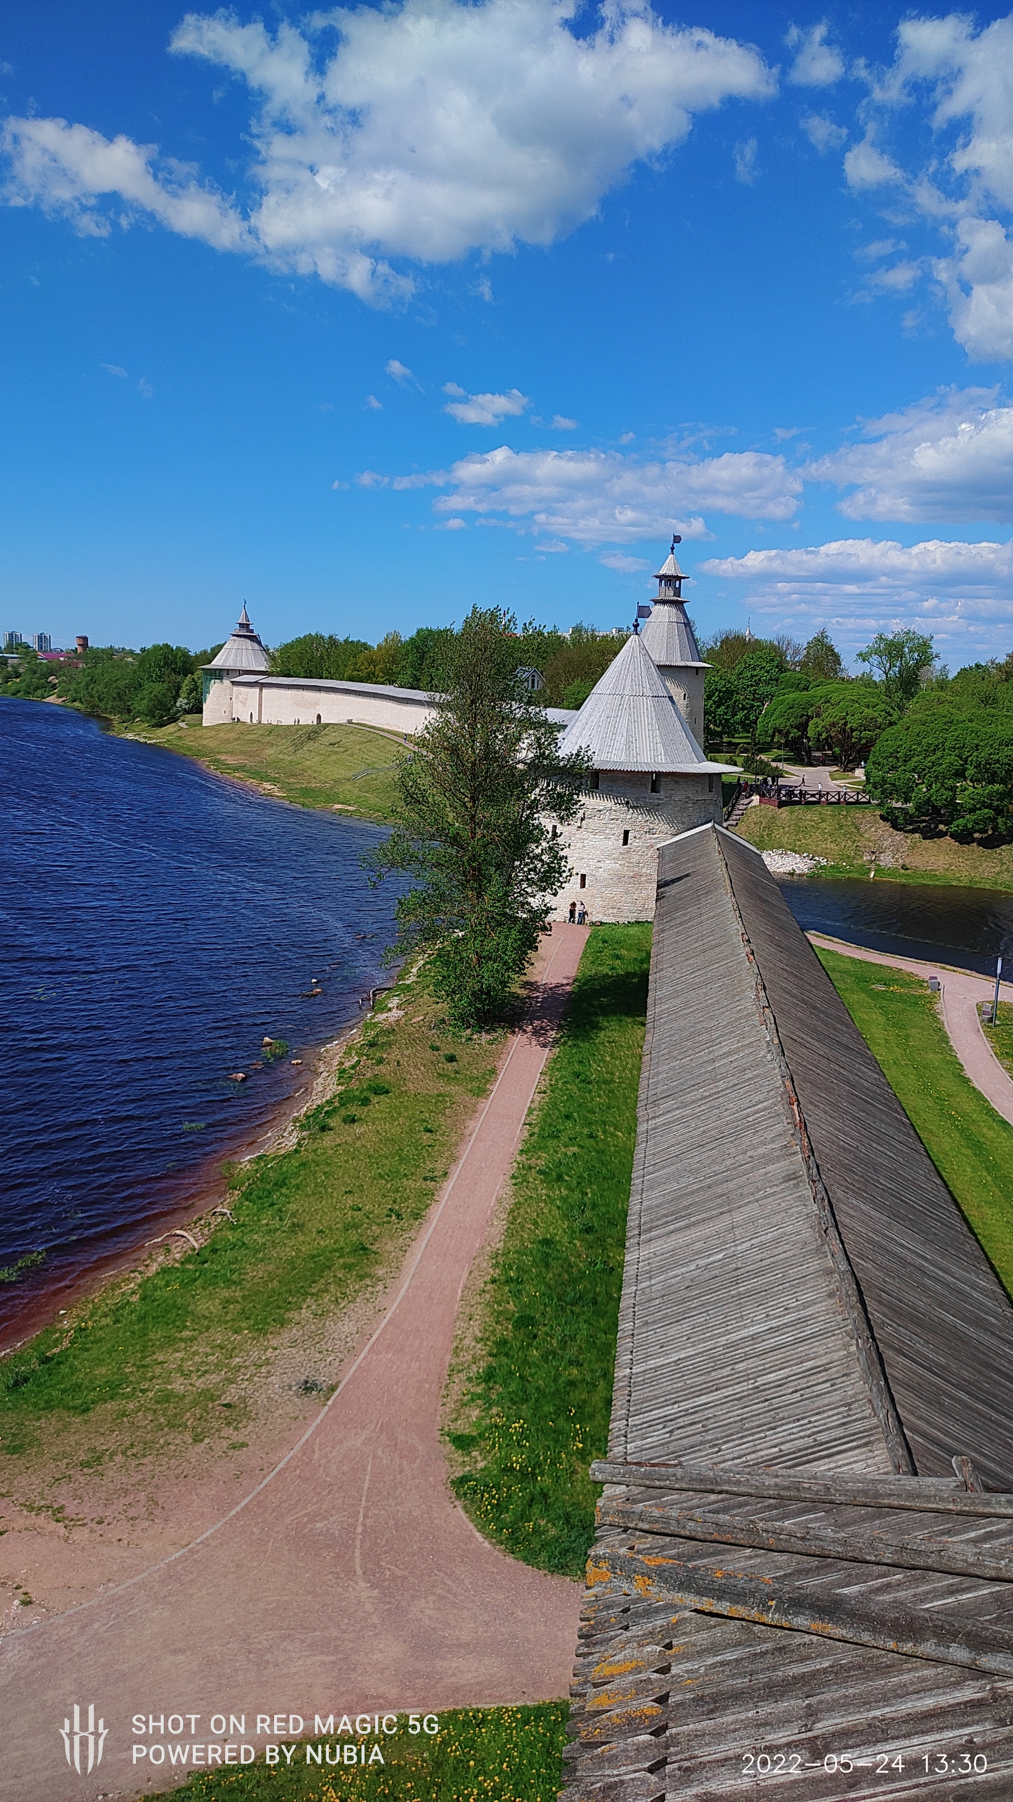
[[[254,782],[263,793],[299,807],[355,811],[389,820],[395,802],[395,760],[404,748],[393,733],[370,726],[202,726],[133,724],[130,737],[196,757],[218,775]]]

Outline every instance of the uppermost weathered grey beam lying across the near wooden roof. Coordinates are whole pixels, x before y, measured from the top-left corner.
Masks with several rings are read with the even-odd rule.
[[[1013,1496],[968,1492],[948,1476],[831,1476],[791,1470],[721,1470],[717,1465],[631,1465],[597,1458],[593,1483],[627,1488],[692,1490],[698,1496],[755,1496],[757,1501],[827,1501],[847,1508],[916,1508],[923,1514],[979,1514],[1013,1519]]]

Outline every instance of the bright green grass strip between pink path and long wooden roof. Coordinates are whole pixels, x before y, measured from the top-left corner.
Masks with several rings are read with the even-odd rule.
[[[447,1434],[476,1526],[570,1577],[595,1528],[588,1465],[607,1445],[649,959],[649,926],[588,941]]]

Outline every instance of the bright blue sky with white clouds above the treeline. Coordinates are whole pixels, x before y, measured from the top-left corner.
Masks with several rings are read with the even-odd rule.
[[[13,0],[0,627],[1013,647],[1013,14]]]

